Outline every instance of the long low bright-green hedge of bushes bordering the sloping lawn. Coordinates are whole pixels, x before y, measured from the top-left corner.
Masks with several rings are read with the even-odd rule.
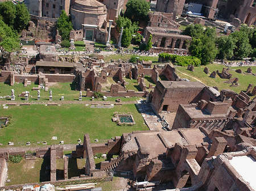
[[[193,56],[179,56],[174,54],[168,54],[168,53],[160,53],[159,58],[162,58],[162,61],[172,61],[174,65],[178,66],[188,66],[188,65],[194,65],[194,66],[200,66],[201,61],[199,58],[193,57]]]

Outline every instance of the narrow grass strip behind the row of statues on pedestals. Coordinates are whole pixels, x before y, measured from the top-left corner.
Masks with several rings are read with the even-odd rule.
[[[53,86],[49,87],[49,90],[52,90],[52,100],[59,101],[61,96],[64,96],[64,100],[78,100],[79,91],[75,91],[76,83],[55,83]],[[110,84],[111,85],[111,84]],[[109,85],[109,90],[110,90]],[[11,89],[14,89],[15,101],[24,101],[24,97],[18,97],[19,94],[22,94],[24,91],[30,92],[30,97],[28,102],[36,101],[42,103],[43,101],[49,100],[49,92],[40,90],[40,101],[38,101],[38,91],[32,91],[32,87],[38,87],[38,84],[31,83],[30,86],[23,87],[22,83],[15,83],[14,86],[0,82],[0,96],[11,95]],[[107,88],[108,90],[108,88]],[[86,92],[82,92],[82,95],[85,96]],[[32,97],[31,97],[32,96]],[[117,98],[123,97],[108,97],[107,101],[115,101]],[[11,98],[0,99],[0,100],[11,100]],[[91,97],[82,97],[83,101],[91,100]],[[102,99],[98,99],[102,101]],[[125,101],[134,101],[137,100],[136,97],[125,98]],[[26,101],[27,102],[27,101]]]

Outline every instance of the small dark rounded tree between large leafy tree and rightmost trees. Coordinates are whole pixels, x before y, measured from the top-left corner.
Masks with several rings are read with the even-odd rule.
[[[226,59],[232,58],[234,56],[234,49],[236,46],[237,40],[232,36],[221,36],[216,40],[216,44],[218,46],[218,54],[217,58]]]

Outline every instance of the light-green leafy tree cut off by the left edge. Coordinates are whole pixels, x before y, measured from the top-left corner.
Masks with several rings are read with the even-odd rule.
[[[0,51],[3,58],[10,58],[11,52],[20,49],[18,33],[0,20]]]

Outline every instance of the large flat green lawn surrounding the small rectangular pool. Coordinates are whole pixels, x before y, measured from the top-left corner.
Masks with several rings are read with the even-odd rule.
[[[113,112],[133,112],[136,122],[134,126],[118,126],[112,122]],[[122,133],[137,130],[148,130],[141,113],[134,104],[115,105],[114,108],[90,108],[90,105],[69,104],[60,106],[23,105],[0,107],[0,113],[11,115],[11,124],[0,129],[0,142],[7,146],[9,141],[15,146],[31,145],[47,141],[48,145],[77,143],[85,133],[90,134],[90,140],[99,139],[103,142]],[[57,140],[51,140],[57,136]],[[42,143],[39,143],[42,145]]]

